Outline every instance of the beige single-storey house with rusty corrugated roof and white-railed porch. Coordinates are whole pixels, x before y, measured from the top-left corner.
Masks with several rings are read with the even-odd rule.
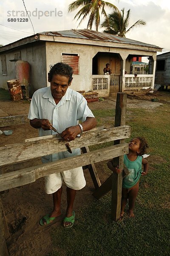
[[[30,94],[49,86],[50,65],[66,62],[74,69],[71,88],[96,91],[99,96],[126,90],[153,87],[156,69],[156,52],[162,48],[97,32],[90,29],[41,32],[0,47],[0,87],[8,89],[7,80],[17,79],[15,61],[30,64]],[[133,56],[149,56],[150,75],[125,74],[130,70]],[[103,68],[109,63],[111,75],[104,75]],[[142,78],[142,79],[141,79]]]

